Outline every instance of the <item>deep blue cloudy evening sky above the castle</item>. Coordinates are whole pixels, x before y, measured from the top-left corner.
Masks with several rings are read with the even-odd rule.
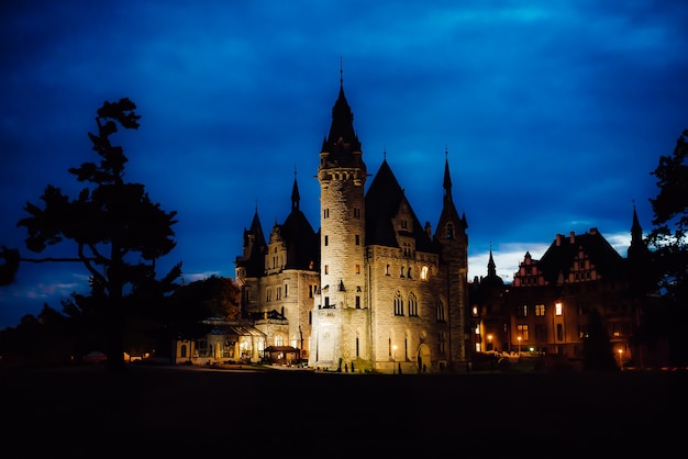
[[[129,97],[126,178],[177,211],[188,281],[234,277],[242,232],[301,209],[319,228],[320,146],[340,88],[364,160],[384,153],[421,222],[442,204],[445,152],[468,220],[469,279],[490,244],[510,281],[526,250],[597,227],[621,255],[635,202],[688,128],[680,1],[26,1],[0,7],[0,244],[22,248],[26,201],[76,197],[103,101]],[[45,253],[44,255],[48,255]],[[22,265],[0,328],[84,291],[80,265]]]

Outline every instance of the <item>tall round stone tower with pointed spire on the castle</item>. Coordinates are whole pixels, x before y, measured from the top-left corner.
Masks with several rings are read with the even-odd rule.
[[[367,315],[362,311],[367,309],[364,269],[367,171],[353,120],[341,85],[318,167],[321,295],[313,317],[315,363],[340,368],[343,361],[364,358],[362,340],[368,338]]]

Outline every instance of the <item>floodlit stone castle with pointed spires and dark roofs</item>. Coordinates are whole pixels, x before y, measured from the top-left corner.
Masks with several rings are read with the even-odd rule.
[[[433,233],[418,220],[386,157],[366,191],[353,120],[340,81],[320,149],[320,228],[299,209],[296,177],[291,212],[267,239],[256,209],[235,260],[242,310],[257,320],[266,348],[296,349],[311,368],[463,368],[469,354],[468,225],[454,205],[448,159]],[[256,350],[265,351],[247,355]]]

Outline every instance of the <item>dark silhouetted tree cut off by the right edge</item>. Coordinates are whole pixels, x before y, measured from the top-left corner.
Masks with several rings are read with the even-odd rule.
[[[654,225],[647,235],[657,283],[669,309],[668,335],[674,365],[688,366],[688,130],[678,137],[670,156],[661,156],[651,172],[659,192],[650,199]]]

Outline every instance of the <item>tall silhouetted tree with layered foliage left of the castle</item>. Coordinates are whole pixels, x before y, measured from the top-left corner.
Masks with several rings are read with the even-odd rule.
[[[106,101],[97,111],[98,133],[88,133],[100,163],[84,163],[68,171],[79,182],[87,182],[76,199],[48,184],[41,197],[43,209],[27,202],[31,215],[19,221],[29,233],[26,248],[36,254],[48,246],[70,240],[74,257],[19,258],[21,261],[78,261],[88,270],[91,282],[102,292],[97,303],[103,317],[107,355],[110,370],[124,368],[124,335],[131,318],[131,296],[143,286],[170,283],[181,275],[177,264],[163,281],[156,281],[156,260],[173,250],[176,243],[171,226],[176,212],[165,212],[148,197],[141,183],[124,181],[127,161],[122,147],[112,145],[110,137],[124,128],[138,128],[136,105],[127,98]],[[66,244],[63,244],[63,246]],[[3,280],[13,279],[16,268],[15,249],[2,247]],[[16,269],[14,269],[16,270]],[[158,289],[164,291],[165,289]]]

